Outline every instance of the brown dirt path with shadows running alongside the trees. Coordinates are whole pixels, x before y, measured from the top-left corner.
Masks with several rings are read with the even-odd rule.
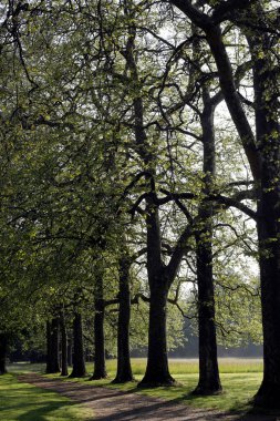
[[[18,379],[92,408],[95,413],[94,421],[280,421],[276,417],[229,415],[214,410],[198,410],[138,393],[48,379],[34,373],[19,376]]]

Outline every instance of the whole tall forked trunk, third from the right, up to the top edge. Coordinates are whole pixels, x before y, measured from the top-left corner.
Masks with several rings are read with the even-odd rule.
[[[128,30],[126,49],[124,57],[127,68],[131,72],[131,82],[133,92],[135,85],[141,86],[137,63],[135,61],[135,37],[136,24],[134,22],[135,11],[131,10],[127,2],[125,13],[129,18],[132,24]],[[144,129],[144,103],[141,88],[137,90],[139,95],[134,96],[134,133],[137,152],[145,168],[145,179],[147,185],[146,203],[146,233],[147,233],[147,273],[151,290],[149,302],[149,332],[148,332],[148,361],[145,376],[139,386],[170,386],[175,383],[168,369],[167,358],[167,340],[166,340],[166,307],[167,295],[170,284],[175,279],[179,261],[183,257],[184,243],[187,233],[184,232],[176,250],[173,254],[168,266],[164,265],[162,258],[162,236],[158,215],[158,204],[156,195],[156,153],[152,145],[147,142],[147,134]]]

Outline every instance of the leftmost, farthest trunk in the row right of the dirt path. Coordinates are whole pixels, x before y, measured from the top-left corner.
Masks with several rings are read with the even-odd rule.
[[[60,355],[59,355],[59,326],[58,317],[46,324],[46,370],[48,374],[60,372]]]

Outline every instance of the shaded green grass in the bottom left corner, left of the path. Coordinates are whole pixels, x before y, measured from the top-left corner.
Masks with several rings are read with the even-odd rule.
[[[73,403],[58,393],[21,383],[13,374],[0,377],[0,420],[84,421],[91,409]]]

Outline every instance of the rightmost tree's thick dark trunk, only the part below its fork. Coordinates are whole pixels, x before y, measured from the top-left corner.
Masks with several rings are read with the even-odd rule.
[[[271,409],[280,408],[279,204],[280,201],[278,194],[273,192],[267,194],[262,193],[258,203],[259,263],[263,328],[263,380],[255,397],[255,403],[257,407],[260,405]]]

